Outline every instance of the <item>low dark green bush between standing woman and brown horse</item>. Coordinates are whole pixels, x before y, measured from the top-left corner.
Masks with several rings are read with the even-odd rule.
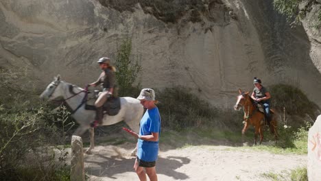
[[[158,108],[162,117],[162,126],[167,128],[174,130],[208,126],[239,128],[241,125],[241,121],[235,121],[239,112],[215,108],[207,101],[193,95],[191,90],[185,87],[156,90],[156,97],[160,101]]]

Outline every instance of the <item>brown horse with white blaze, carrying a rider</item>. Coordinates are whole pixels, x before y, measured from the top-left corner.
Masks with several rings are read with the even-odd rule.
[[[235,110],[240,110],[243,107],[244,111],[244,127],[242,130],[242,136],[245,134],[246,130],[248,130],[249,125],[253,125],[254,132],[254,145],[257,145],[257,134],[260,134],[260,145],[263,141],[263,129],[264,129],[264,113],[259,111],[257,106],[255,106],[254,101],[251,99],[248,92],[242,93],[242,90],[239,89],[239,95],[237,96],[237,102],[234,106]],[[277,140],[278,134],[276,132],[277,122],[275,119],[275,115],[273,110],[271,111],[271,122],[270,122],[270,131],[274,134],[274,138]]]

